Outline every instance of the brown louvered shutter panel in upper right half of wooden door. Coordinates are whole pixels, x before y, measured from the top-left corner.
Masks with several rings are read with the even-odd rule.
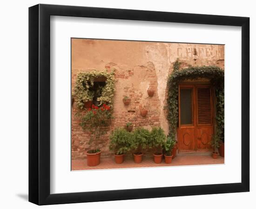
[[[211,124],[211,90],[209,87],[197,88],[197,124]]]

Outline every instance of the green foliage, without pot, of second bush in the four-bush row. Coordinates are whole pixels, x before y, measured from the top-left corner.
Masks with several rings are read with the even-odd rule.
[[[141,153],[148,146],[150,132],[145,128],[136,128],[131,140],[131,149],[135,153]]]

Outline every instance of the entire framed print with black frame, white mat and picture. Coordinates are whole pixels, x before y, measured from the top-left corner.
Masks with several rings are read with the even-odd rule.
[[[249,18],[29,8],[29,201],[249,191]]]

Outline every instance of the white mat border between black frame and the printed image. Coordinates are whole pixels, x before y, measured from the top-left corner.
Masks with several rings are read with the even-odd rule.
[[[70,37],[225,44],[225,165],[70,172]],[[50,42],[52,194],[241,182],[241,27],[55,16]]]

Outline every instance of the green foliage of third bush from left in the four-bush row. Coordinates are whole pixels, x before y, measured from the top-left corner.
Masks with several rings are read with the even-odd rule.
[[[150,132],[149,148],[153,148],[157,154],[161,154],[165,140],[166,136],[163,129],[161,127],[154,127]]]

